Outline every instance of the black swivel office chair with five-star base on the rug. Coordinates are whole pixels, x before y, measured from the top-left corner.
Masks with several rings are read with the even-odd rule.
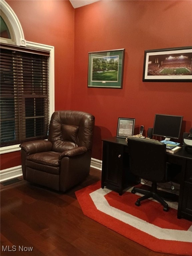
[[[152,182],[150,190],[136,187],[132,189],[133,194],[136,192],[144,194],[135,202],[135,205],[140,206],[141,201],[154,198],[163,205],[163,210],[167,212],[169,207],[162,197],[176,201],[178,196],[157,190],[157,182],[165,183],[177,174],[176,171],[174,172],[173,166],[166,162],[166,145],[156,140],[137,137],[128,137],[127,143],[130,152],[131,172]]]

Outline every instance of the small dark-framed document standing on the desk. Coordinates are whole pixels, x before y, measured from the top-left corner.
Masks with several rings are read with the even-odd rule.
[[[134,133],[135,118],[118,118],[117,138],[126,138]]]

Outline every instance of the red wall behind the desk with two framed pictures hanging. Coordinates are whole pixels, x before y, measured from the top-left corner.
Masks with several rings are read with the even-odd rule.
[[[192,43],[192,1],[99,1],[75,9],[72,108],[95,115],[93,157],[116,136],[118,117],[153,127],[155,113],[184,116],[192,127],[192,84],[142,82],[144,50]],[[88,52],[125,48],[123,89],[87,88]],[[135,129],[138,133],[138,129]]]

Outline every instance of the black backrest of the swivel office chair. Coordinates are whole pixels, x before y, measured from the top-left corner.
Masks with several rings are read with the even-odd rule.
[[[160,141],[129,137],[130,170],[152,181],[166,181],[166,145]]]

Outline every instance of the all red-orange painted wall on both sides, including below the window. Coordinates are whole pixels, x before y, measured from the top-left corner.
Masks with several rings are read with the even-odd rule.
[[[6,2],[26,40],[55,47],[55,110],[95,115],[93,158],[102,159],[101,139],[116,135],[118,117],[136,118],[136,133],[155,113],[183,115],[183,131],[192,127],[191,83],[142,82],[144,50],[191,45],[192,1]],[[87,88],[88,52],[121,48],[123,89]],[[1,169],[17,165],[19,152],[1,155]]]

